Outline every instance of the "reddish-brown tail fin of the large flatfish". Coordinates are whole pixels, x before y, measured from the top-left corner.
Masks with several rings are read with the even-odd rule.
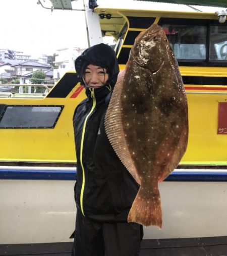
[[[128,222],[136,222],[144,226],[158,226],[161,228],[161,200],[158,189],[155,190],[149,198],[145,198],[140,187],[130,209]]]

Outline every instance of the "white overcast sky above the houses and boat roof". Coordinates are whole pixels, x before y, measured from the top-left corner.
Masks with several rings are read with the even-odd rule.
[[[50,7],[49,0],[41,0]],[[1,40],[0,48],[8,48],[38,58],[43,54],[52,55],[58,49],[88,46],[85,14],[83,11],[47,10],[37,4],[38,0],[0,0]],[[176,5],[149,3],[133,0],[98,0],[99,6],[112,8],[176,10]],[[83,9],[83,0],[73,1],[74,9]],[[142,4],[142,5],[141,5]],[[183,11],[189,7],[178,5]],[[196,7],[198,8],[198,7]],[[202,8],[215,12],[218,8]]]

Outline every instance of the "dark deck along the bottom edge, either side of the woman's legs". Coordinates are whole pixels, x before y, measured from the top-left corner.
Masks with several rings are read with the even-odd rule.
[[[72,242],[0,244],[0,255],[70,256]],[[147,239],[140,256],[227,256],[227,236],[182,239]],[[117,255],[116,255],[117,256]]]

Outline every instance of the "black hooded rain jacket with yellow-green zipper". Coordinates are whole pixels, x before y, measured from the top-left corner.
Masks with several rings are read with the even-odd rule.
[[[103,44],[99,46],[103,48]],[[77,210],[91,220],[109,223],[127,222],[139,185],[116,155],[104,129],[106,109],[119,71],[112,59],[116,62],[117,59],[112,50],[113,53],[107,55],[110,60],[104,63],[106,66],[92,61],[93,54],[97,58],[97,48],[95,53],[94,48],[87,49],[89,63],[107,67],[110,77],[106,86],[97,89],[86,88],[87,98],[77,106],[74,113],[77,156],[75,200]],[[103,58],[105,59],[106,57]],[[78,67],[76,66],[77,71]]]

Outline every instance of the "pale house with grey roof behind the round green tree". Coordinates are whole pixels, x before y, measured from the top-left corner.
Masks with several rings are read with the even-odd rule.
[[[16,77],[20,79],[20,84],[30,84],[30,78],[32,77],[32,74],[37,70],[42,70],[44,72],[51,70],[49,64],[42,64],[33,60],[28,60],[16,65],[12,65],[12,68],[15,69]],[[51,74],[49,73],[48,76],[50,80]]]

